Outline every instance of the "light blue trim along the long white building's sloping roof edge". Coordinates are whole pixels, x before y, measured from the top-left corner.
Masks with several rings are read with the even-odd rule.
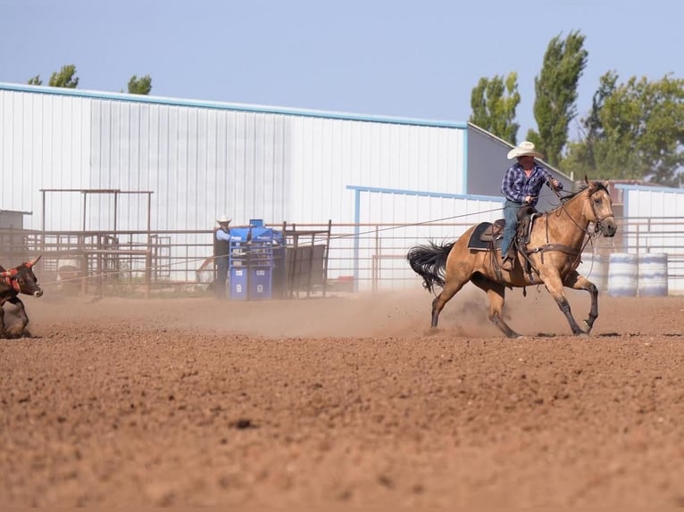
[[[69,89],[64,87],[45,87],[45,86],[28,86],[21,84],[8,84],[0,82],[0,90],[14,91],[21,93],[32,93],[41,95],[63,95],[74,96],[80,98],[90,98],[96,100],[110,100],[117,102],[130,103],[150,103],[177,107],[196,107],[203,109],[215,109],[222,111],[243,111],[254,113],[269,113],[280,115],[292,115],[301,117],[321,118],[330,120],[355,120],[364,122],[377,122],[386,124],[401,124],[412,126],[423,126],[433,128],[468,128],[468,123],[456,122],[448,120],[422,120],[413,118],[399,118],[391,116],[375,116],[363,115],[351,112],[335,112],[335,111],[316,111],[307,109],[296,109],[287,107],[275,107],[269,105],[254,105],[246,103],[223,103],[223,102],[207,102],[179,98],[167,98],[162,96],[147,96],[147,95],[129,95],[125,93],[107,93],[102,91],[88,91],[83,89]]]

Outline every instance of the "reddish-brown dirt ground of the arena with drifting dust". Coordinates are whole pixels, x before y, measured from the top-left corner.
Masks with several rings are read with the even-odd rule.
[[[0,506],[684,506],[684,297],[430,301],[26,298]]]

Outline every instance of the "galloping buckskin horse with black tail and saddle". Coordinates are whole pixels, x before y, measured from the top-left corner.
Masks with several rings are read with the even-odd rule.
[[[505,288],[541,284],[546,285],[563,311],[572,334],[589,334],[598,318],[598,290],[586,277],[580,276],[577,267],[581,251],[592,235],[588,229],[590,224],[594,224],[596,234],[614,236],[617,230],[607,182],[589,182],[585,177],[585,185],[578,192],[563,197],[560,206],[527,220],[520,223],[513,241],[516,260],[511,270],[501,268],[495,240],[485,250],[469,246],[475,231],[491,227],[488,223],[470,227],[455,242],[430,242],[411,248],[406,259],[423,278],[423,286],[430,293],[435,285],[442,287],[442,292],[432,301],[432,328],[437,327],[439,313],[446,302],[471,281],[487,293],[488,318],[509,338],[518,338],[521,334],[504,321]],[[496,222],[499,226],[500,223],[500,220]],[[570,303],[563,293],[564,286],[590,293],[591,309],[584,320],[586,329],[572,317]]]

